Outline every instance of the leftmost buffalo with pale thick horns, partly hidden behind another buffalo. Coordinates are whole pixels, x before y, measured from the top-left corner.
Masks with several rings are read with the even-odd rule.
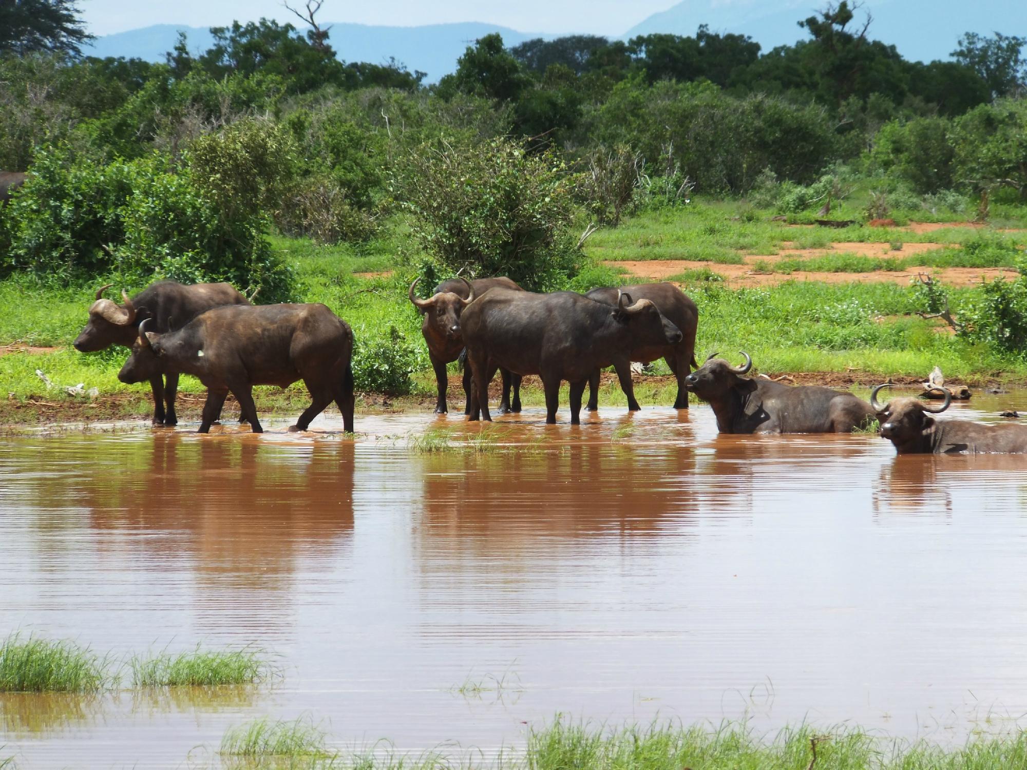
[[[89,322],[75,339],[75,349],[81,353],[94,353],[111,345],[130,348],[139,336],[139,326],[152,319],[151,331],[163,334],[181,329],[204,310],[221,305],[249,305],[250,302],[228,283],[195,283],[183,285],[174,280],[152,283],[128,299],[124,291],[123,306],[104,298],[111,283],[97,291],[97,300],[89,308]],[[166,379],[167,384],[164,384]],[[154,425],[176,425],[175,394],[179,388],[178,374],[157,372],[150,379],[153,391]],[[164,402],[167,411],[164,411]]]

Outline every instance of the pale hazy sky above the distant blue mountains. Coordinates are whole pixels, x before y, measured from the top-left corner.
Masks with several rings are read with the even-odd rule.
[[[414,26],[488,22],[524,32],[591,32],[620,35],[677,0],[325,0],[326,22]],[[302,6],[302,0],[294,5]],[[280,0],[82,0],[94,35],[152,24],[212,27],[233,18],[291,17]]]

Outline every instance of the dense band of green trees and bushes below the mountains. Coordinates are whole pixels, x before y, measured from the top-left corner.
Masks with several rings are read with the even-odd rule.
[[[706,28],[512,49],[489,35],[434,85],[340,61],[312,15],[305,33],[215,29],[198,55],[181,39],[159,64],[81,56],[73,3],[47,2],[56,27],[0,37],[0,168],[35,171],[0,215],[0,272],[216,278],[280,299],[293,279],[267,232],[360,242],[405,211],[442,264],[504,255],[554,285],[577,264],[574,211],[615,225],[640,197],[795,211],[853,175],[895,200],[1027,195],[1025,41],[966,35],[952,62],[907,62],[846,2],[765,53]]]

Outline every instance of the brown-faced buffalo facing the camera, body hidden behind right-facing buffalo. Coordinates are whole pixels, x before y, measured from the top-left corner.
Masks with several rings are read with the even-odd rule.
[[[452,363],[463,352],[463,336],[460,333],[460,313],[470,304],[467,299],[473,292],[481,297],[490,288],[501,286],[515,292],[523,291],[509,278],[450,278],[435,286],[434,294],[427,300],[417,299],[414,287],[418,278],[410,284],[408,293],[414,307],[421,311],[424,321],[421,323],[421,334],[428,344],[428,358],[435,371],[435,383],[439,388],[439,398],[435,401],[435,414],[445,415],[448,411],[446,392],[449,388],[449,376],[446,364]],[[506,370],[500,370],[503,378],[503,394],[499,401],[499,414],[521,411],[521,377],[510,375]],[[514,387],[514,403],[510,405],[510,385]],[[463,413],[470,414],[470,368],[463,368],[463,392],[466,394]]]

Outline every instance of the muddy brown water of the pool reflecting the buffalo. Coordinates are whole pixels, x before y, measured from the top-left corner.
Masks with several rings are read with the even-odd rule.
[[[1010,408],[1027,393],[952,413]],[[250,645],[283,677],[0,694],[0,759],[183,767],[261,715],[309,715],[337,746],[488,755],[558,711],[942,742],[1027,713],[1024,458],[718,436],[706,406],[543,416],[500,418],[518,446],[481,455],[410,452],[479,429],[423,414],[362,417],[355,441],[338,415],[303,436],[3,438],[0,633],[118,657]]]

